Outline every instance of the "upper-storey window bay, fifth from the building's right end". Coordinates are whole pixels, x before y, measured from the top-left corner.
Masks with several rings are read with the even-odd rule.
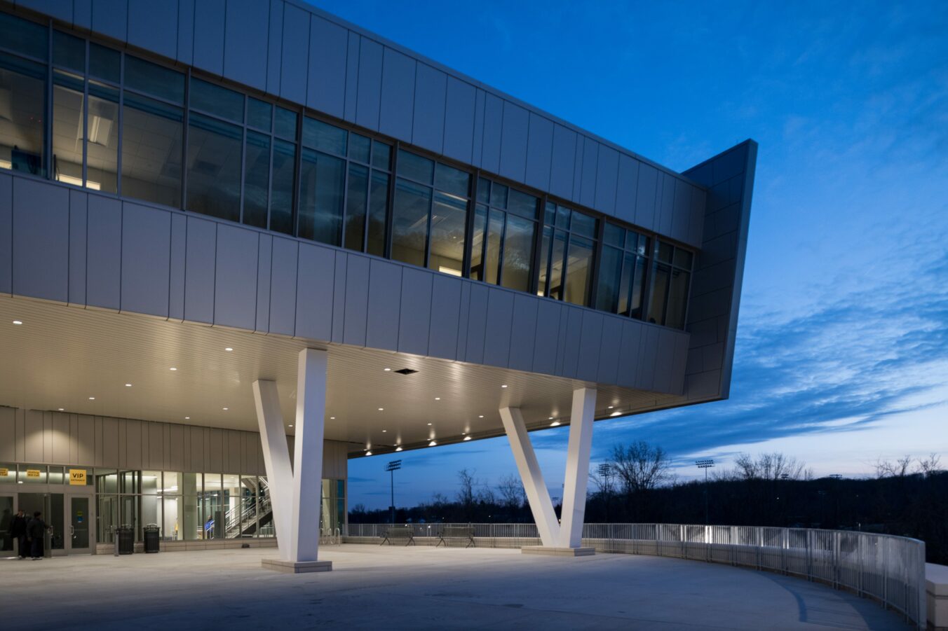
[[[392,259],[462,276],[470,174],[398,152]]]

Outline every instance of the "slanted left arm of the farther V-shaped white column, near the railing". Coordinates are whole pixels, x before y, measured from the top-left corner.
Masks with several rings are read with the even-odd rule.
[[[537,454],[534,453],[530,436],[527,435],[520,408],[501,407],[501,420],[510,440],[510,448],[514,452],[514,460],[520,471],[520,480],[523,482],[530,510],[533,512],[534,521],[537,522],[540,541],[544,547],[553,548],[559,536],[556,511],[553,510],[550,491],[543,482],[543,472],[540,471]]]

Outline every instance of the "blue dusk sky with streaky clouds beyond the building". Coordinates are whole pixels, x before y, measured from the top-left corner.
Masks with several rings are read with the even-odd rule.
[[[948,5],[313,4],[676,171],[759,143],[731,399],[597,423],[593,460],[948,461]],[[533,437],[556,496],[567,433]],[[350,461],[350,507],[388,505],[387,460]],[[403,460],[399,505],[516,471],[506,439]]]

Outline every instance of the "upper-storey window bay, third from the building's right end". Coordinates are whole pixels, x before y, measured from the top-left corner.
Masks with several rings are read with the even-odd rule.
[[[595,218],[552,202],[547,202],[543,216],[537,293],[588,305],[593,289]]]

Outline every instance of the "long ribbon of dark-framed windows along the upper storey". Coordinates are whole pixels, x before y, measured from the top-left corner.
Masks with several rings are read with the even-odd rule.
[[[684,327],[687,250],[2,11],[0,169]]]

